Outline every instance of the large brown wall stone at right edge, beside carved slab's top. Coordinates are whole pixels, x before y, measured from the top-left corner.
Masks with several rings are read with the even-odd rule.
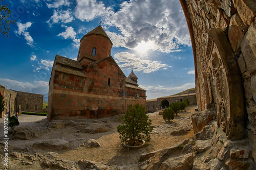
[[[241,50],[250,73],[256,70],[256,22],[254,21],[241,42]]]

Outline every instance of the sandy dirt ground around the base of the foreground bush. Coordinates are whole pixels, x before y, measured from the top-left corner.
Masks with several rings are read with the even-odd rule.
[[[175,122],[177,119],[189,117],[190,115],[194,114],[195,107],[196,106],[190,106],[186,109],[186,112],[180,112],[178,116],[175,116],[173,121]],[[162,115],[159,115],[158,112],[150,113],[149,117],[152,120],[154,127],[164,125]],[[111,134],[102,135],[97,139],[97,141],[101,144],[100,148],[70,150],[60,153],[59,156],[67,160],[87,159],[96,162],[103,161],[108,165],[128,166],[136,164],[139,156],[142,153],[153,152],[162,148],[171,147],[172,145],[175,145],[186,138],[192,137],[193,135],[193,130],[189,131],[187,135],[180,136],[153,133],[151,134],[151,141],[148,142],[146,147],[136,150],[129,150],[120,145],[121,141],[118,137],[118,133],[113,132]]]

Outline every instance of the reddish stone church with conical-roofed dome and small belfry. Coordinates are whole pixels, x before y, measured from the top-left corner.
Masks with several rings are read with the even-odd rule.
[[[49,82],[52,119],[103,118],[122,114],[127,106],[146,106],[146,90],[133,70],[126,77],[111,56],[112,41],[102,27],[80,40],[77,61],[56,55]]]

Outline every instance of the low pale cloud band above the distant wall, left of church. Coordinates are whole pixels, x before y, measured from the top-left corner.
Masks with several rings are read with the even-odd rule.
[[[48,93],[48,89],[49,89],[49,86],[48,86],[49,82],[46,82],[46,81],[34,81],[33,83],[30,83],[30,82],[19,82],[16,80],[0,78],[0,84],[3,86],[8,85],[8,89],[30,92],[30,93],[37,93],[37,94],[46,94]]]

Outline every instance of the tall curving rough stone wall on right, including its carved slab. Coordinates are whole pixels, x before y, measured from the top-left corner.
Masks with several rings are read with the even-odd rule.
[[[218,127],[230,139],[249,136],[254,145],[252,156],[255,160],[255,1],[180,2],[193,45],[197,103],[200,110],[215,104],[218,114],[222,112],[227,116],[217,117]],[[240,107],[234,109],[237,105]]]

